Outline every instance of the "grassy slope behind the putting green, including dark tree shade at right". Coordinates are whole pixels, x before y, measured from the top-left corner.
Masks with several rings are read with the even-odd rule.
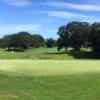
[[[57,51],[57,48],[31,48],[25,52],[14,52],[0,49],[0,59],[54,59],[54,60],[71,60],[71,59],[100,59],[100,53],[96,54],[91,49],[82,48],[79,53],[68,49]]]

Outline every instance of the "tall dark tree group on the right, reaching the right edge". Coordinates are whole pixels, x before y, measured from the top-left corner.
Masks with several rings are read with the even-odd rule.
[[[100,23],[69,22],[59,27],[57,34],[59,51],[71,47],[79,52],[82,47],[90,47],[94,52],[100,52]]]

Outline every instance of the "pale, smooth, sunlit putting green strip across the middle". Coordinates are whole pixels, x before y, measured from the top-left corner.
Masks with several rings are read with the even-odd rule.
[[[0,70],[36,76],[73,75],[100,72],[100,61],[0,60]]]

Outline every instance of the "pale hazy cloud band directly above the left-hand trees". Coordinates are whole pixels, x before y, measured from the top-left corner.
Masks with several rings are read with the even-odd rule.
[[[34,32],[39,30],[41,25],[31,24],[31,25],[16,25],[16,24],[3,24],[0,25],[0,34],[12,34],[20,31]]]

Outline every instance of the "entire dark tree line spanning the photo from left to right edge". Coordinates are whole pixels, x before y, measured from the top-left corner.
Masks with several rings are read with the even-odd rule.
[[[57,40],[53,38],[45,39],[40,34],[19,32],[16,34],[5,35],[0,38],[0,48],[7,50],[26,50],[34,47],[71,47],[73,51],[79,52],[82,47],[92,48],[94,52],[100,52],[100,23],[89,24],[87,22],[69,22],[67,25],[59,27]]]

